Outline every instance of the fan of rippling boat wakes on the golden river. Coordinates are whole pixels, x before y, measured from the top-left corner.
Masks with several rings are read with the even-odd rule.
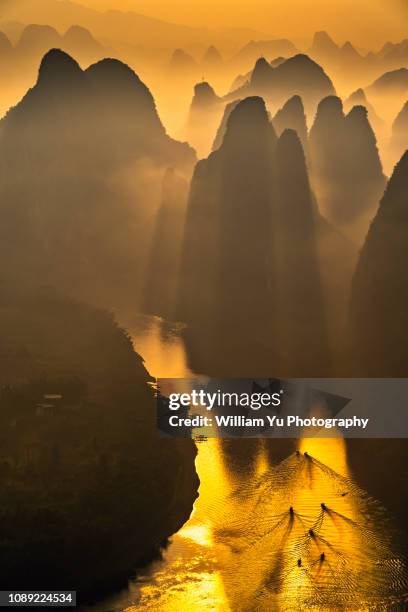
[[[408,574],[398,534],[384,508],[350,478],[298,452],[238,486],[231,499],[230,520],[228,503],[213,520],[216,540],[231,551],[225,572],[236,587],[232,609],[403,605]]]

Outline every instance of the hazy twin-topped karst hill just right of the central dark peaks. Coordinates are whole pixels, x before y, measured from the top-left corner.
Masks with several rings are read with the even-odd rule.
[[[312,183],[322,213],[361,241],[385,186],[367,110],[354,106],[344,115],[340,98],[325,98],[309,143]]]

